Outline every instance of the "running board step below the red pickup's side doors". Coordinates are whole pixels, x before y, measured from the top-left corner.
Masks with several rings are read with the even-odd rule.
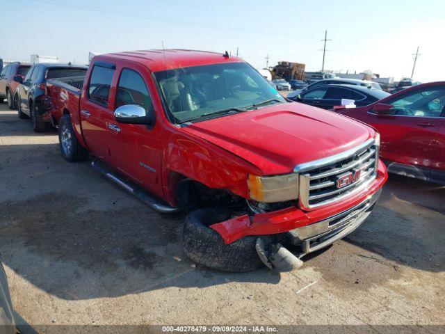
[[[108,166],[106,166],[106,164],[104,164],[99,159],[93,159],[91,161],[91,166],[93,166],[95,170],[97,170],[99,173],[108,177],[108,179],[110,179],[111,181],[115,182],[115,184],[118,184],[123,189],[127,190],[133,196],[135,196],[139,200],[142,200],[149,207],[155,209],[157,212],[161,212],[163,214],[170,214],[179,211],[179,208],[170,207],[170,205],[163,204],[159,200],[156,200],[153,196],[151,196],[147,191],[142,189],[137,184],[131,182],[130,180],[124,179],[124,177],[118,175],[118,173],[113,173],[108,168]]]

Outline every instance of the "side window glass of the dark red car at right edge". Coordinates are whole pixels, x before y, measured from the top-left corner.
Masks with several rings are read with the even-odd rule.
[[[408,93],[388,103],[394,106],[394,115],[440,117],[445,106],[445,87]]]

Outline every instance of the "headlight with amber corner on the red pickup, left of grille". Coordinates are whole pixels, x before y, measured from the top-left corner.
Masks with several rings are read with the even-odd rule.
[[[249,174],[250,198],[258,202],[282,202],[298,198],[298,174],[257,176]]]

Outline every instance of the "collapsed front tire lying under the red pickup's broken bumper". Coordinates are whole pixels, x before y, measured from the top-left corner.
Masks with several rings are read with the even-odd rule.
[[[243,237],[226,245],[220,234],[209,228],[228,218],[230,212],[227,209],[199,209],[188,214],[182,235],[186,256],[221,271],[251,271],[264,267],[255,249],[257,237]]]

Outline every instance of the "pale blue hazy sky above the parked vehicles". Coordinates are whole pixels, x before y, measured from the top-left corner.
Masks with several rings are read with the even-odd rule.
[[[87,63],[88,52],[229,51],[254,67],[278,61],[380,77],[445,80],[444,0],[1,0],[0,57]],[[7,33],[4,33],[4,32]]]

